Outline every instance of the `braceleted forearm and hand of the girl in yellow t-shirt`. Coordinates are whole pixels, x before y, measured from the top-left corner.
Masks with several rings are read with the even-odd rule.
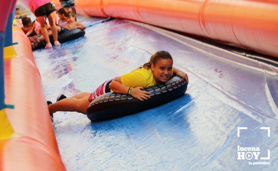
[[[129,86],[122,84],[121,77],[117,77],[113,79],[112,82],[109,84],[109,88],[116,93],[128,94]],[[143,90],[143,87],[134,87],[132,88],[130,94],[141,101],[151,98],[149,96],[151,93]]]

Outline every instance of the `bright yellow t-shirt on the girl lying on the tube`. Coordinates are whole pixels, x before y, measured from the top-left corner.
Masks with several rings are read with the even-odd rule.
[[[173,75],[174,70],[172,69]],[[127,85],[129,87],[149,87],[152,85],[156,85],[156,81],[153,77],[151,68],[145,69],[145,68],[139,68],[136,70],[133,70],[130,73],[124,74],[121,76],[121,82],[124,85]]]

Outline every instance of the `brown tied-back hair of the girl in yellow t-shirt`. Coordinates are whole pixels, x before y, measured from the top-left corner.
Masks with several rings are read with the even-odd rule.
[[[172,56],[170,55],[169,52],[161,50],[161,51],[157,51],[155,54],[151,55],[150,61],[147,62],[147,63],[144,63],[144,65],[141,65],[139,68],[150,69],[151,64],[153,63],[153,65],[156,65],[156,63],[160,59],[171,59],[171,60],[173,60],[173,58],[172,58]]]

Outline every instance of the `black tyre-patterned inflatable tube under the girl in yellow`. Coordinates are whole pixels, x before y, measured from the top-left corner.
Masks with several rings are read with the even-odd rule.
[[[151,92],[151,98],[140,101],[131,95],[106,93],[94,99],[87,109],[87,117],[92,121],[118,118],[166,104],[184,95],[186,81],[173,76],[165,83],[145,88]]]

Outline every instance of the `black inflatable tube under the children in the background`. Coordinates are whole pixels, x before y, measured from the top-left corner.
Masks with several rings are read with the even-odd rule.
[[[63,43],[73,39],[77,39],[79,37],[83,37],[84,35],[85,35],[85,30],[81,30],[81,29],[67,30],[61,34],[58,34],[58,41],[60,43]],[[54,43],[53,37],[49,37],[49,39],[50,42],[53,44]],[[40,41],[38,46],[35,47],[35,49],[44,48],[45,45],[46,45],[45,41]]]

